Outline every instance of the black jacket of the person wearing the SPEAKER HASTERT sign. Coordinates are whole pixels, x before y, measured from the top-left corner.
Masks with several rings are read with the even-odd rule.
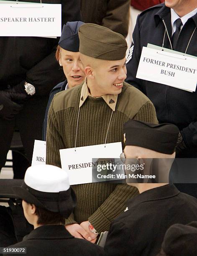
[[[40,0],[24,0],[40,3]],[[81,20],[80,0],[42,0],[61,4],[61,25]],[[55,58],[59,38],[0,37],[0,90],[27,81],[36,88],[36,96],[49,94],[65,76]]]

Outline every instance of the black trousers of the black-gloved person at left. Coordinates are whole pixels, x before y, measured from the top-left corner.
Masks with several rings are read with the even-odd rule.
[[[42,126],[49,95],[31,98],[14,120],[0,118],[0,170],[5,165],[15,128],[20,131],[26,157],[31,164],[34,140],[42,140]]]

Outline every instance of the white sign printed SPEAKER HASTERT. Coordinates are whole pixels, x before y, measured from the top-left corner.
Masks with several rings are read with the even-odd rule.
[[[0,4],[0,36],[61,36],[61,4]]]

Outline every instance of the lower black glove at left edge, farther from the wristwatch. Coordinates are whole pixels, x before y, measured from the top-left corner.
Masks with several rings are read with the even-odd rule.
[[[20,99],[20,94],[18,98]],[[12,120],[16,114],[23,108],[11,100],[11,93],[0,91],[0,116],[6,120]]]

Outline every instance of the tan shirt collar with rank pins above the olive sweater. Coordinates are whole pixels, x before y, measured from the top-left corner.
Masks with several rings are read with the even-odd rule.
[[[84,84],[82,86],[82,90],[81,90],[81,95],[80,95],[80,100],[79,100],[79,108],[81,108],[81,106],[83,105],[83,103],[85,102],[85,100],[87,99],[88,96],[92,97],[92,95],[90,94],[90,92],[88,90],[87,82],[86,82],[86,79],[85,79]],[[117,103],[117,100],[118,100],[118,95],[106,94],[106,95],[96,97],[96,98],[103,98],[103,100],[105,100],[107,105],[113,111],[115,111],[115,106],[116,106],[116,103]]]

